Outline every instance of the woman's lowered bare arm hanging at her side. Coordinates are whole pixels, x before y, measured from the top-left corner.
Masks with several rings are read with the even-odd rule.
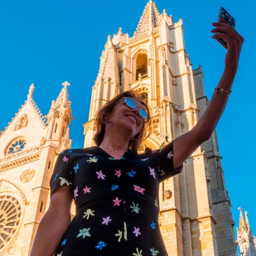
[[[39,224],[30,256],[52,256],[71,222],[72,196],[70,187],[57,188]]]

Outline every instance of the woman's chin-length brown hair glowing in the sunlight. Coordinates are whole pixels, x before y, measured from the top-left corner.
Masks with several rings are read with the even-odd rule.
[[[95,125],[96,125],[96,134],[94,135],[94,142],[97,146],[100,146],[104,134],[105,134],[105,127],[106,127],[106,114],[112,113],[112,110],[117,104],[119,100],[123,97],[133,97],[137,98],[141,102],[141,104],[144,106],[148,113],[147,119],[144,120],[142,129],[139,131],[137,135],[133,139],[130,140],[128,149],[129,150],[137,150],[144,139],[146,139],[150,133],[151,133],[151,116],[150,116],[150,108],[147,105],[147,102],[144,100],[143,96],[140,94],[134,92],[133,90],[127,90],[126,92],[118,94],[116,97],[114,97],[112,100],[107,102],[104,106],[102,106],[101,109],[98,110],[96,117],[95,117]]]

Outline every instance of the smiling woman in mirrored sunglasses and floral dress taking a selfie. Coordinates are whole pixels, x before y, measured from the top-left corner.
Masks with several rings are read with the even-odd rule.
[[[31,255],[167,255],[158,226],[158,185],[181,172],[207,141],[231,93],[243,38],[223,19],[213,38],[228,44],[225,69],[197,125],[161,150],[137,149],[150,125],[147,104],[134,92],[108,102],[96,117],[97,146],[65,150],[51,179],[51,203]],[[76,216],[71,222],[72,200]]]

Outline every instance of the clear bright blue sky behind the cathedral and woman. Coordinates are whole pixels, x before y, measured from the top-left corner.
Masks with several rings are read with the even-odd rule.
[[[72,114],[72,147],[82,147],[82,124],[88,121],[90,94],[96,80],[101,52],[108,35],[133,36],[148,0],[117,1],[1,1],[0,3],[0,128],[27,99],[31,83],[34,100],[44,115],[58,96],[61,83],[69,81]],[[237,20],[245,38],[233,93],[218,124],[218,143],[226,189],[232,202],[235,227],[238,207],[247,210],[256,236],[255,204],[255,42],[254,0],[154,1],[175,22],[183,19],[186,51],[193,68],[203,66],[208,98],[220,79],[225,49],[211,38],[212,22],[225,7]],[[109,5],[108,5],[109,3]]]

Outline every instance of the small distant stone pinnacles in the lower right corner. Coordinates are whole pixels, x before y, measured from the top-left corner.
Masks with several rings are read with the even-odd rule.
[[[247,212],[243,217],[242,209],[240,210],[239,227],[237,228],[237,240],[242,256],[256,256],[256,237],[253,236],[251,231]]]

